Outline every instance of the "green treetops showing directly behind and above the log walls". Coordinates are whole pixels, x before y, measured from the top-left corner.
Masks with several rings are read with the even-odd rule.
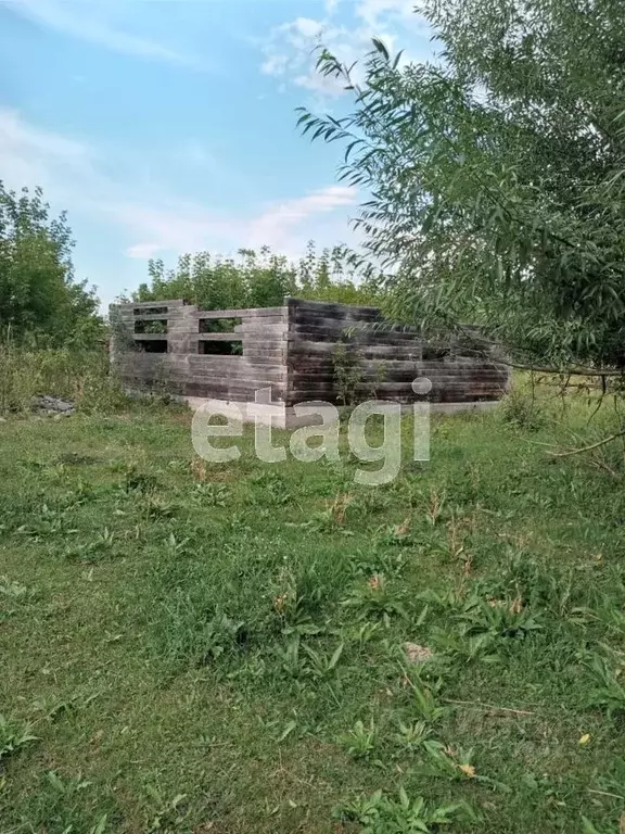
[[[317,254],[312,243],[298,263],[264,247],[259,252],[240,250],[237,258],[208,252],[182,255],[176,269],[151,261],[149,269],[150,282],[133,293],[135,301],[184,299],[205,309],[279,306],[285,295],[344,304],[380,301],[373,270],[355,271],[341,249]]]

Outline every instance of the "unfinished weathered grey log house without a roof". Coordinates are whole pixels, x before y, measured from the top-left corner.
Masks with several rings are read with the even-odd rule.
[[[259,389],[289,409],[377,397],[423,401],[434,410],[485,407],[507,391],[510,371],[496,355],[434,348],[391,328],[377,307],[288,298],[280,307],[199,309],[183,301],[111,307],[112,362],[126,389],[161,389],[195,400],[254,402]],[[350,389],[346,391],[346,380]]]

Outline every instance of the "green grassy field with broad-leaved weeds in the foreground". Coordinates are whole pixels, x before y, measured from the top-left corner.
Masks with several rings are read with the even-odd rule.
[[[2,834],[623,832],[616,450],[545,445],[615,417],[507,414],[377,489],[174,407],[0,425]]]

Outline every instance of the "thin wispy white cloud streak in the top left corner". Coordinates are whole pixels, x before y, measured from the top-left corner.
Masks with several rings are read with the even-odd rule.
[[[66,0],[12,0],[8,8],[40,26],[114,52],[173,64],[194,64],[187,54],[117,27],[107,18],[112,5]]]

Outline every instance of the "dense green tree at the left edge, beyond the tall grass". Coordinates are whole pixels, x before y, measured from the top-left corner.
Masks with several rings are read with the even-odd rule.
[[[0,181],[0,338],[85,346],[103,333],[98,299],[74,280],[65,214],[50,217],[42,192]]]

